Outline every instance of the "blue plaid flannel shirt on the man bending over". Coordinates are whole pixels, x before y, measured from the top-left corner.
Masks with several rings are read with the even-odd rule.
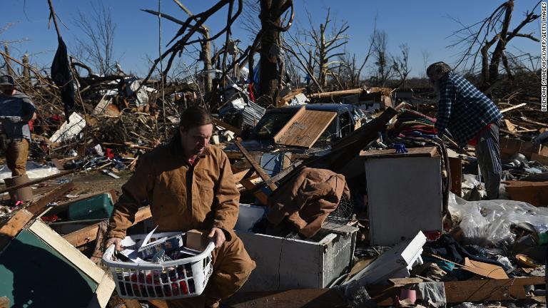
[[[475,86],[457,73],[450,72],[440,81],[440,101],[437,104],[435,128],[441,135],[445,128],[460,147],[489,123],[502,118],[497,106]]]

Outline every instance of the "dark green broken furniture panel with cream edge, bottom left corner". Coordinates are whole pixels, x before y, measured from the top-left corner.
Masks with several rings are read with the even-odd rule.
[[[21,209],[0,229],[0,296],[11,307],[106,307],[108,274],[33,216]]]

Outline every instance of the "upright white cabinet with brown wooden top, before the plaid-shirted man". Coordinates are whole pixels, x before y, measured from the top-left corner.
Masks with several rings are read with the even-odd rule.
[[[362,151],[370,244],[392,246],[417,232],[442,233],[442,178],[435,147]],[[395,227],[397,226],[397,227]]]

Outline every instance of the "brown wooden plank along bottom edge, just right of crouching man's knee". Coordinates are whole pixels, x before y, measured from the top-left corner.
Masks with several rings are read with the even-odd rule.
[[[223,300],[223,305],[233,308],[348,307],[346,299],[335,289],[240,292]]]

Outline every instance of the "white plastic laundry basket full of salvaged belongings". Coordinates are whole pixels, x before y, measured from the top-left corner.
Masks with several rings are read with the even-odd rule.
[[[181,232],[158,233],[154,236],[170,237]],[[133,241],[141,241],[146,235],[131,235]],[[213,272],[211,252],[215,244],[210,242],[205,250],[193,257],[162,262],[122,262],[114,255],[114,245],[103,255],[103,263],[112,272],[116,291],[126,299],[180,299],[202,294]]]

